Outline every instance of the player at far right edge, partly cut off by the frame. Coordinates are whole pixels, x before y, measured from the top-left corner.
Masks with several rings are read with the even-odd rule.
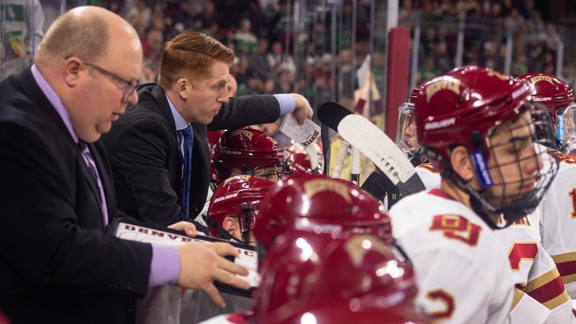
[[[524,74],[517,79],[534,86],[532,97],[555,122],[556,140],[548,154],[559,160],[557,179],[540,204],[542,246],[552,256],[566,291],[576,298],[576,161],[568,154],[576,148],[573,89],[551,74]]]

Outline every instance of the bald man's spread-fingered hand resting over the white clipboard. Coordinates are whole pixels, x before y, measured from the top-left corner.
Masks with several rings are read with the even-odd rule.
[[[177,248],[180,255],[177,284],[180,287],[202,289],[220,307],[226,307],[226,303],[214,286],[214,280],[241,289],[250,288],[248,282],[234,276],[248,276],[248,270],[224,258],[225,255],[238,257],[238,251],[231,244],[192,242]]]

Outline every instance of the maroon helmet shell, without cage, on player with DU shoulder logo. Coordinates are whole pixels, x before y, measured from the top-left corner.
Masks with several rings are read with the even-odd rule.
[[[470,140],[472,132],[478,132],[486,145],[489,130],[526,111],[522,106],[530,103],[532,91],[528,82],[516,82],[507,74],[484,67],[468,67],[434,78],[414,99],[419,142],[445,160],[451,145],[465,145],[473,152],[478,148]]]

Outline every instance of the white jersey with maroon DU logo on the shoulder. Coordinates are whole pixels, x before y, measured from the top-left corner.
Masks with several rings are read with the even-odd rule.
[[[390,216],[414,264],[416,303],[435,323],[505,323],[514,296],[510,263],[482,218],[439,189],[404,197]]]

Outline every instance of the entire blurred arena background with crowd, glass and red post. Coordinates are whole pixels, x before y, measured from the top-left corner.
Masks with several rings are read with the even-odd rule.
[[[181,31],[205,32],[234,48],[238,95],[297,92],[314,109],[329,100],[353,110],[370,70],[377,91],[367,91],[359,112],[391,138],[411,89],[454,67],[551,73],[571,85],[576,78],[574,0],[0,0],[0,78],[27,66],[41,33],[81,5],[106,7],[137,29],[143,81],[156,78],[158,46]],[[238,33],[245,20],[246,37]],[[268,41],[267,53],[281,43],[293,66],[255,80],[245,62],[256,51],[250,34]]]

